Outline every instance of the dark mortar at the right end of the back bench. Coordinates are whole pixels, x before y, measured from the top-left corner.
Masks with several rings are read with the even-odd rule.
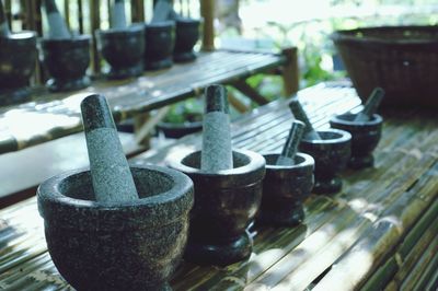
[[[176,20],[175,48],[173,50],[173,60],[175,62],[186,62],[196,59],[193,47],[199,39],[199,20]]]

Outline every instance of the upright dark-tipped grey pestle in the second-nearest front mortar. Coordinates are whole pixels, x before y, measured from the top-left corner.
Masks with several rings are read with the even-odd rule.
[[[200,168],[215,173],[233,167],[229,106],[222,85],[208,86],[205,95]]]

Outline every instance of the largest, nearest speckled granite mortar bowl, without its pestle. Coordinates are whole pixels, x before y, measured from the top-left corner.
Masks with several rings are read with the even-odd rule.
[[[193,183],[158,166],[131,167],[140,199],[94,200],[90,171],[44,182],[38,210],[47,247],[78,290],[165,290],[187,240]]]

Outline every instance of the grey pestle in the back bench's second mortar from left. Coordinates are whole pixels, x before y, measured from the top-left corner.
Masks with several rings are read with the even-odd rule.
[[[49,27],[49,38],[51,39],[71,38],[71,34],[67,27],[66,21],[59,13],[55,0],[44,0],[44,8],[46,11],[47,22]]]

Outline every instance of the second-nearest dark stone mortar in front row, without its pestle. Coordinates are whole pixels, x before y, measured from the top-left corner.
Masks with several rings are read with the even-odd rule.
[[[233,163],[234,168],[218,173],[201,171],[200,151],[170,162],[195,185],[186,260],[224,266],[251,255],[252,240],[246,228],[261,203],[265,159],[255,152],[235,150]]]

